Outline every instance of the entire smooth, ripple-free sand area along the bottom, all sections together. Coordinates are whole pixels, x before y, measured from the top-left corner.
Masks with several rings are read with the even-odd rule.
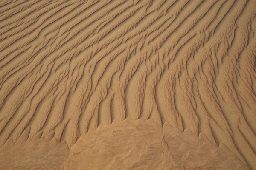
[[[54,133],[41,132],[30,139],[25,130],[14,144],[8,140],[0,150],[0,168],[22,170],[247,170],[224,144],[215,146],[204,133],[182,133],[152,119],[127,118],[102,123],[70,148],[57,142]],[[70,153],[69,153],[70,152]],[[69,153],[69,154],[68,154]],[[69,156],[68,156],[69,155]]]

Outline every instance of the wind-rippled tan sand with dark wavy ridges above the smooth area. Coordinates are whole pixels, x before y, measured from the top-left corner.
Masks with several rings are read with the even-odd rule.
[[[256,169],[255,16],[255,0],[0,1],[0,148],[28,128],[71,148],[131,117]]]

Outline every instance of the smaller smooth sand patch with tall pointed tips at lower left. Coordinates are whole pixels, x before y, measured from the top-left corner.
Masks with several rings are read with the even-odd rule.
[[[10,138],[0,149],[1,170],[58,170],[64,168],[69,149],[65,142],[57,142],[54,133],[44,139],[39,132],[32,140],[25,130],[18,141]]]

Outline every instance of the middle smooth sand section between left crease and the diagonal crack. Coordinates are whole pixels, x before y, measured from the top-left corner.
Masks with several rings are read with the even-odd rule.
[[[154,160],[154,161],[152,161]],[[163,139],[163,130],[154,121],[100,125],[89,130],[70,149],[64,170],[180,170]]]

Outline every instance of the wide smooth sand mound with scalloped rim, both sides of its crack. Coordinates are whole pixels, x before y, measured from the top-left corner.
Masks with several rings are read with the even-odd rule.
[[[89,130],[70,149],[64,170],[249,169],[226,147],[215,146],[202,133],[153,120],[114,120]]]

